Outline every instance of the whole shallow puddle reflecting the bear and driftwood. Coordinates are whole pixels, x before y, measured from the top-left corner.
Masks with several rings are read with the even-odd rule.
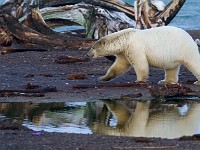
[[[178,138],[200,133],[199,116],[188,100],[0,103],[0,121],[47,132]]]

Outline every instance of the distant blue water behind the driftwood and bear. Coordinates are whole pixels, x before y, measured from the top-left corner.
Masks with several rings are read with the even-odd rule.
[[[0,4],[4,0],[0,0]],[[129,4],[133,4],[134,0],[124,0]],[[163,0],[168,4],[171,0]],[[199,0],[186,0],[184,6],[178,15],[170,23],[172,26],[180,27],[183,29],[200,30],[200,1]]]

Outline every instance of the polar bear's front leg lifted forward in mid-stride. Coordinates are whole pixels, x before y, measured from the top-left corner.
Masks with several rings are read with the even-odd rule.
[[[108,69],[106,75],[99,78],[101,81],[109,81],[119,75],[126,73],[131,65],[124,55],[117,55],[113,65]]]

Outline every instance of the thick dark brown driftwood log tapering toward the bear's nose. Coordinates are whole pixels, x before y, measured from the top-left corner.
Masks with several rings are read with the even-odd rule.
[[[13,51],[29,50],[52,50],[52,49],[70,49],[70,48],[89,48],[94,40],[80,39],[59,35],[59,33],[49,30],[42,26],[39,21],[32,19],[32,28],[23,26],[16,18],[11,15],[0,16],[0,30],[3,32],[1,37],[1,54]],[[38,25],[38,26],[37,26]],[[36,27],[35,27],[36,26]],[[34,30],[37,28],[41,32]],[[44,33],[44,31],[46,33]],[[10,47],[12,45],[12,47]]]

